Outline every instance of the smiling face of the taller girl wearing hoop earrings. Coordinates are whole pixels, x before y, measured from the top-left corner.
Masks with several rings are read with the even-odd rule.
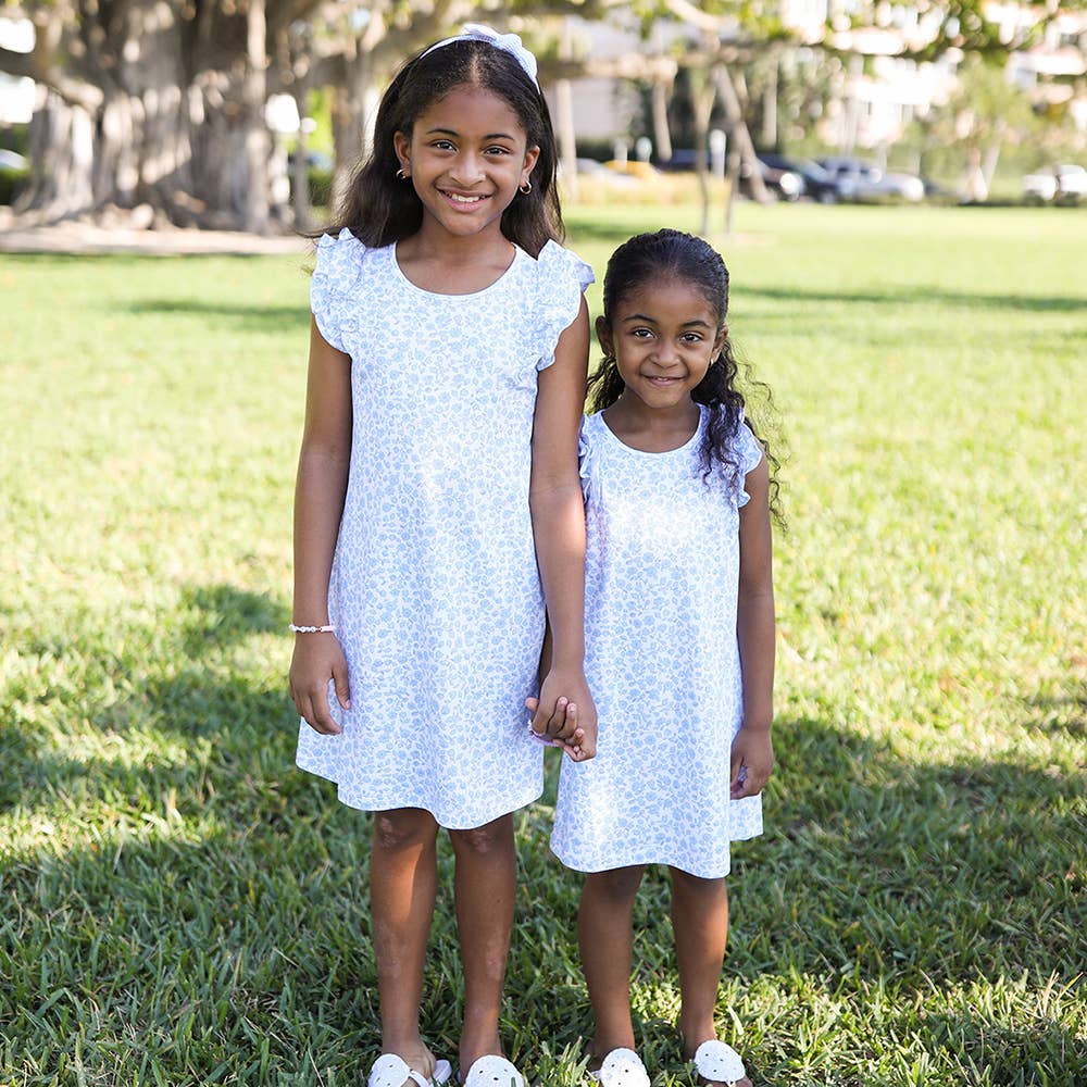
[[[500,230],[502,212],[539,155],[505,101],[471,85],[432,103],[410,136],[393,136],[393,146],[423,202],[423,229],[457,237]]]

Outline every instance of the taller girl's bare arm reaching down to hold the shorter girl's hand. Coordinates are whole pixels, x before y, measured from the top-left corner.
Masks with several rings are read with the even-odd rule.
[[[536,559],[551,626],[551,662],[540,687],[537,732],[560,697],[576,705],[583,758],[596,750],[596,707],[585,683],[585,508],[577,433],[585,404],[589,317],[585,300],[559,337],[555,361],[540,372],[533,424],[529,507]]]

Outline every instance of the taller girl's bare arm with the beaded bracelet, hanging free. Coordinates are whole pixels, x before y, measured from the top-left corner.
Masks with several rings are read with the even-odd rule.
[[[305,424],[295,484],[295,608],[303,626],[328,623],[328,579],[351,464],[351,360],[322,337],[311,318]],[[347,662],[333,634],[298,634],[290,694],[320,733],[338,733],[328,712],[328,680],[349,702]]]

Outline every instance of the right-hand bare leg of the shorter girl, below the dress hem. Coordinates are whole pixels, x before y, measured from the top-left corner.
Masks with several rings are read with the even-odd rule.
[[[679,1035],[684,1057],[716,1038],[713,1012],[717,1002],[721,964],[728,942],[728,888],[724,879],[700,879],[672,869],[672,927],[679,963]],[[741,1087],[751,1080],[740,1079]]]

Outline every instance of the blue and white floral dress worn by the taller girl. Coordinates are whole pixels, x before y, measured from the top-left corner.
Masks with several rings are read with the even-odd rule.
[[[482,826],[542,791],[525,732],[544,599],[528,510],[538,372],[592,271],[548,242],[470,295],[412,284],[396,247],[317,246],[311,305],[351,357],[351,467],[328,589],[351,709],[302,723],[298,765],[368,811]],[[329,687],[332,690],[332,688]]]

